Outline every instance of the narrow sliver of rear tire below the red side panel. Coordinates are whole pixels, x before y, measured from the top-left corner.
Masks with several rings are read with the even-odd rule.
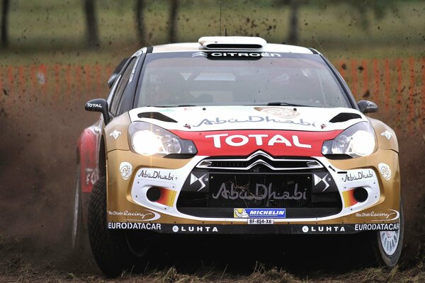
[[[77,166],[77,176],[75,178],[75,189],[74,189],[74,209],[72,212],[72,231],[71,231],[71,248],[72,253],[78,256],[84,251],[87,231],[84,227],[83,222],[83,207],[82,207],[82,195],[81,195],[81,174],[80,166]]]

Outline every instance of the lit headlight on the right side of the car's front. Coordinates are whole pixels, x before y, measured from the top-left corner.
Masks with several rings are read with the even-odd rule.
[[[373,154],[376,148],[373,127],[368,122],[360,122],[341,132],[335,139],[324,141],[322,154],[328,158],[356,158]]]

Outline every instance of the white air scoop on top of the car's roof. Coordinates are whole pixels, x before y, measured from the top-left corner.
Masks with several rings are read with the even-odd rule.
[[[205,36],[198,42],[209,50],[259,50],[267,44],[261,37],[247,36]]]

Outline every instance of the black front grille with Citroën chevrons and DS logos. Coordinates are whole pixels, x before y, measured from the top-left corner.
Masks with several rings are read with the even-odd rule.
[[[184,214],[233,217],[234,208],[285,208],[287,218],[322,217],[342,209],[331,175],[313,158],[208,158],[188,176],[177,201]]]

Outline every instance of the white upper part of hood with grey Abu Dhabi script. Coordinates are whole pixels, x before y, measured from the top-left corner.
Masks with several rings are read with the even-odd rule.
[[[226,129],[327,132],[368,121],[365,115],[351,108],[288,106],[145,107],[130,110],[129,115],[132,122],[193,132]]]

